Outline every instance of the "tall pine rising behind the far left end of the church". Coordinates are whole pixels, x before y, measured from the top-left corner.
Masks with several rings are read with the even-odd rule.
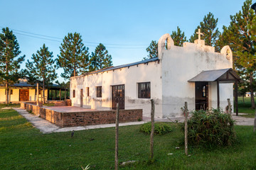
[[[69,79],[80,72],[87,72],[89,55],[89,48],[82,43],[82,36],[79,33],[68,33],[60,45],[60,55],[58,55],[58,66],[64,69],[64,73],[60,76]]]

